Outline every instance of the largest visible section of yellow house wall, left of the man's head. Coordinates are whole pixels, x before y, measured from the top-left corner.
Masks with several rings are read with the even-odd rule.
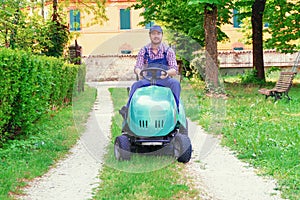
[[[126,9],[132,3],[108,3],[106,15],[108,21],[103,25],[84,26],[92,16],[81,18],[80,36],[77,42],[82,46],[84,56],[92,54],[118,54],[122,47],[129,47],[137,52],[142,46],[149,42],[148,31],[145,27],[138,26],[142,21],[139,16],[142,10],[130,10],[131,29],[120,30],[120,9]]]

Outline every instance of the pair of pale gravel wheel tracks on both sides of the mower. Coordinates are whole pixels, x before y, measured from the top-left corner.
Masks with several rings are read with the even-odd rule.
[[[90,83],[97,98],[87,122],[87,129],[70,155],[46,175],[26,188],[28,200],[85,200],[97,187],[105,146],[110,140],[113,106],[108,87],[127,87],[132,82]],[[101,128],[100,128],[101,127]],[[206,134],[200,126],[189,122],[193,158],[186,164],[186,176],[201,191],[202,199],[213,200],[277,200],[276,182],[257,176],[255,170],[238,160],[233,152],[219,145],[219,139]]]

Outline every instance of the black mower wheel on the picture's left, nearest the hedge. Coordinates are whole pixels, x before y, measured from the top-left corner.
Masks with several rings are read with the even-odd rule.
[[[130,142],[126,135],[116,137],[114,152],[117,160],[130,160]]]

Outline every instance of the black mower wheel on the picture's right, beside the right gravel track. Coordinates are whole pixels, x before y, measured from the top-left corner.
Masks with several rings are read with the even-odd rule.
[[[187,135],[176,134],[174,138],[174,156],[178,162],[187,163],[192,157],[192,144]]]

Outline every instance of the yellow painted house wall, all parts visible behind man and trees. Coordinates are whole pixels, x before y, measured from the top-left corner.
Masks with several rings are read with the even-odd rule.
[[[143,20],[140,15],[143,9],[134,10],[131,12],[131,29],[120,30],[120,9],[125,9],[135,2],[117,2],[107,1],[106,15],[108,21],[103,25],[86,26],[91,21],[92,16],[81,13],[81,31],[77,38],[78,44],[82,46],[82,55],[88,56],[91,54],[119,54],[122,47],[129,47],[133,53],[136,53],[142,46],[149,42],[148,30],[145,27],[139,26],[138,23]],[[46,9],[46,13],[50,13]],[[73,8],[70,5],[70,9]],[[49,14],[48,14],[49,15]],[[67,15],[69,16],[69,14]],[[252,45],[241,44],[243,34],[239,31],[240,28],[234,28],[232,24],[226,24],[221,29],[228,35],[229,41],[219,42],[219,50],[232,50],[233,47],[243,46],[244,49],[252,49]],[[268,37],[266,34],[264,37]],[[74,43],[74,41],[72,41]]]

